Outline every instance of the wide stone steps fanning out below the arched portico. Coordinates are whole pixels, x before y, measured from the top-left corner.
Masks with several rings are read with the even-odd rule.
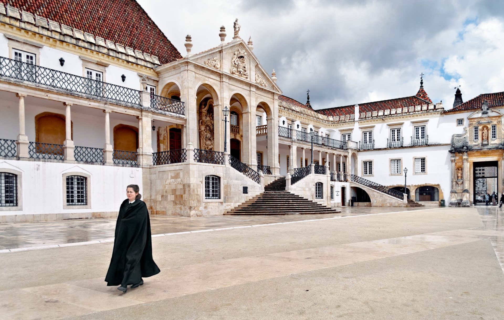
[[[264,192],[247,200],[224,215],[301,215],[337,214],[339,210],[285,191],[285,177],[264,187]]]

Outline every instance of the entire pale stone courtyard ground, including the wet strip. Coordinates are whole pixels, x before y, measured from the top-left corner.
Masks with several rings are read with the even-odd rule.
[[[0,254],[0,319],[502,319],[503,210],[348,210],[152,218],[161,273],[125,294],[103,281],[112,243],[83,244],[113,220],[0,224],[31,249]],[[33,247],[55,239],[81,245]]]

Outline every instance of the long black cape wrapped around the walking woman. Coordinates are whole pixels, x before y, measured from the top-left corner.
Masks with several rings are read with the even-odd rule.
[[[107,286],[133,285],[160,270],[152,259],[151,222],[142,200],[122,201],[115,225],[114,249],[105,281]]]

